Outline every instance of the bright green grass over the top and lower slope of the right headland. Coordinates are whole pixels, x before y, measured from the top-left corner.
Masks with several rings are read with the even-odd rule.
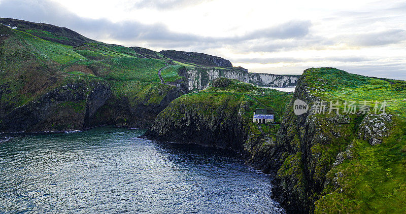
[[[352,75],[335,68],[312,68],[305,76],[311,92],[322,100],[386,100],[389,105],[386,112],[393,115],[394,121],[390,136],[380,145],[371,146],[357,137],[351,139],[354,158],[327,173],[328,179],[344,174],[338,176],[340,188],[326,185],[315,203],[316,212],[405,212],[406,82]],[[321,82],[325,82],[324,86]],[[327,156],[340,147],[343,150],[340,144],[315,145],[312,150]],[[327,162],[331,161],[334,160]]]

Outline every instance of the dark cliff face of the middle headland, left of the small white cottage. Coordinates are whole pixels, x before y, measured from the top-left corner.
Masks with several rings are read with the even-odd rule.
[[[186,105],[185,101],[183,98],[172,102],[145,135],[164,141],[242,151],[247,127],[238,115],[240,106],[235,100],[222,99],[222,103],[215,106],[201,103]],[[181,114],[173,114],[173,111]],[[218,114],[210,115],[212,112]]]

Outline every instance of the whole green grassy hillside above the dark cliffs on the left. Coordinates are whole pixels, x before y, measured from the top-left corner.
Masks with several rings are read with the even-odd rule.
[[[108,100],[108,104],[118,108],[117,101],[126,100],[125,108],[134,109],[139,105],[160,105],[168,93],[176,90],[173,85],[160,83],[157,74],[160,68],[166,66],[161,73],[166,82],[184,81],[178,74],[182,65],[173,62],[167,65],[168,59],[164,57],[146,58],[131,48],[89,40],[53,25],[16,20],[11,24],[18,25],[17,29],[0,26],[0,124],[1,118],[19,106],[66,84],[107,83],[113,93],[111,99],[116,99]],[[77,45],[78,41],[83,43]],[[168,101],[171,100],[165,102]],[[81,114],[85,112],[83,109]]]

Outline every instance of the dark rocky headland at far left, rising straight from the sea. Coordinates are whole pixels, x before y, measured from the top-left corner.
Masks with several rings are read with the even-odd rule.
[[[48,91],[6,114],[4,132],[82,130],[111,95],[106,82],[77,81]]]

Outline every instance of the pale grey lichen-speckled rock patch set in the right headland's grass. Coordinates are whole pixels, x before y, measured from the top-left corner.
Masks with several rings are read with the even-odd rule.
[[[393,122],[391,117],[388,114],[365,116],[359,126],[358,138],[368,140],[373,146],[381,144],[382,139],[389,136],[388,126]]]

